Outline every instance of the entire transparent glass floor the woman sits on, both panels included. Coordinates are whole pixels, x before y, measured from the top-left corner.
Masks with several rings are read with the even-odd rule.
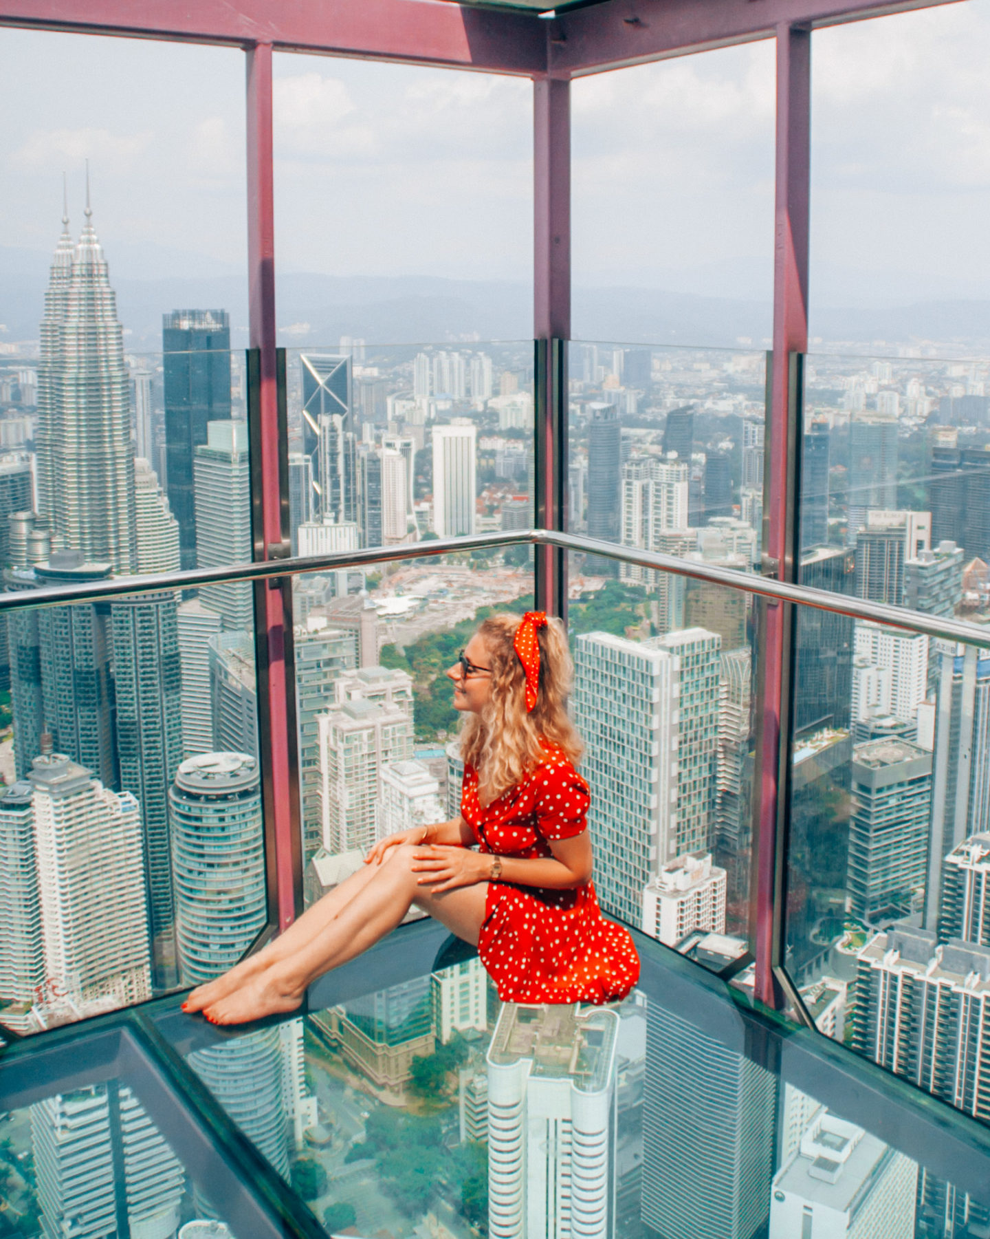
[[[422,921],[248,1031],[14,1042],[0,1237],[990,1237],[990,1129],[637,945],[615,1007],[500,1004]]]

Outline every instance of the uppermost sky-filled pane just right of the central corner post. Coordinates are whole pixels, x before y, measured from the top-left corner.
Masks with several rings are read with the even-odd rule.
[[[773,42],[572,82],[574,335],[768,347]]]

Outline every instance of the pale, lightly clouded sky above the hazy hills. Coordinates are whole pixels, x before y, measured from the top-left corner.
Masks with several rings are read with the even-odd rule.
[[[990,0],[813,35],[812,304],[990,296]],[[129,278],[238,273],[244,56],[0,30],[2,244],[50,252],[62,172]],[[531,85],[276,56],[285,271],[527,282]],[[766,299],[773,48],[573,87],[574,280]]]

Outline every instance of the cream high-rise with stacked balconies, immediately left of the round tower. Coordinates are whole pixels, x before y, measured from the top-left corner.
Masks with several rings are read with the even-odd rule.
[[[77,1004],[151,997],[137,800],[61,753],[36,757],[30,782],[46,978]]]

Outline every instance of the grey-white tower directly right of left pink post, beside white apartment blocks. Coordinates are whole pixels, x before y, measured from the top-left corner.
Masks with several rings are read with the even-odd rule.
[[[309,616],[293,633],[296,720],[299,745],[299,802],[303,861],[323,843],[323,777],[317,716],[334,700],[333,685],[358,667],[358,634],[334,628],[324,616]]]

